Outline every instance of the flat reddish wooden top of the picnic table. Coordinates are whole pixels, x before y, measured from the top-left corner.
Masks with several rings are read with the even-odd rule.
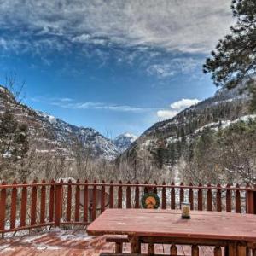
[[[108,209],[90,224],[90,235],[157,236],[189,239],[256,241],[256,215],[178,210]]]

